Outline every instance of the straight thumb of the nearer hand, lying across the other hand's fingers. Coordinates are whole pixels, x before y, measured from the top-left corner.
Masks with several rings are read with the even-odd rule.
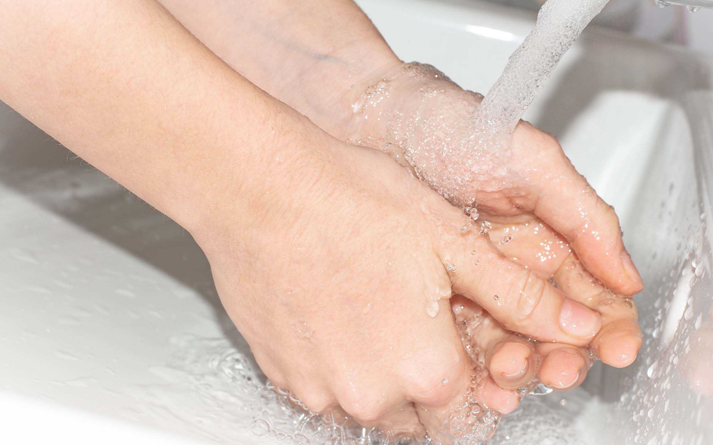
[[[578,346],[588,344],[599,331],[601,320],[595,311],[508,260],[489,241],[467,234],[457,241],[447,236],[442,239],[446,244],[441,246],[441,258],[453,264],[453,291],[481,305],[508,330]],[[476,255],[465,254],[474,244],[478,246]]]

